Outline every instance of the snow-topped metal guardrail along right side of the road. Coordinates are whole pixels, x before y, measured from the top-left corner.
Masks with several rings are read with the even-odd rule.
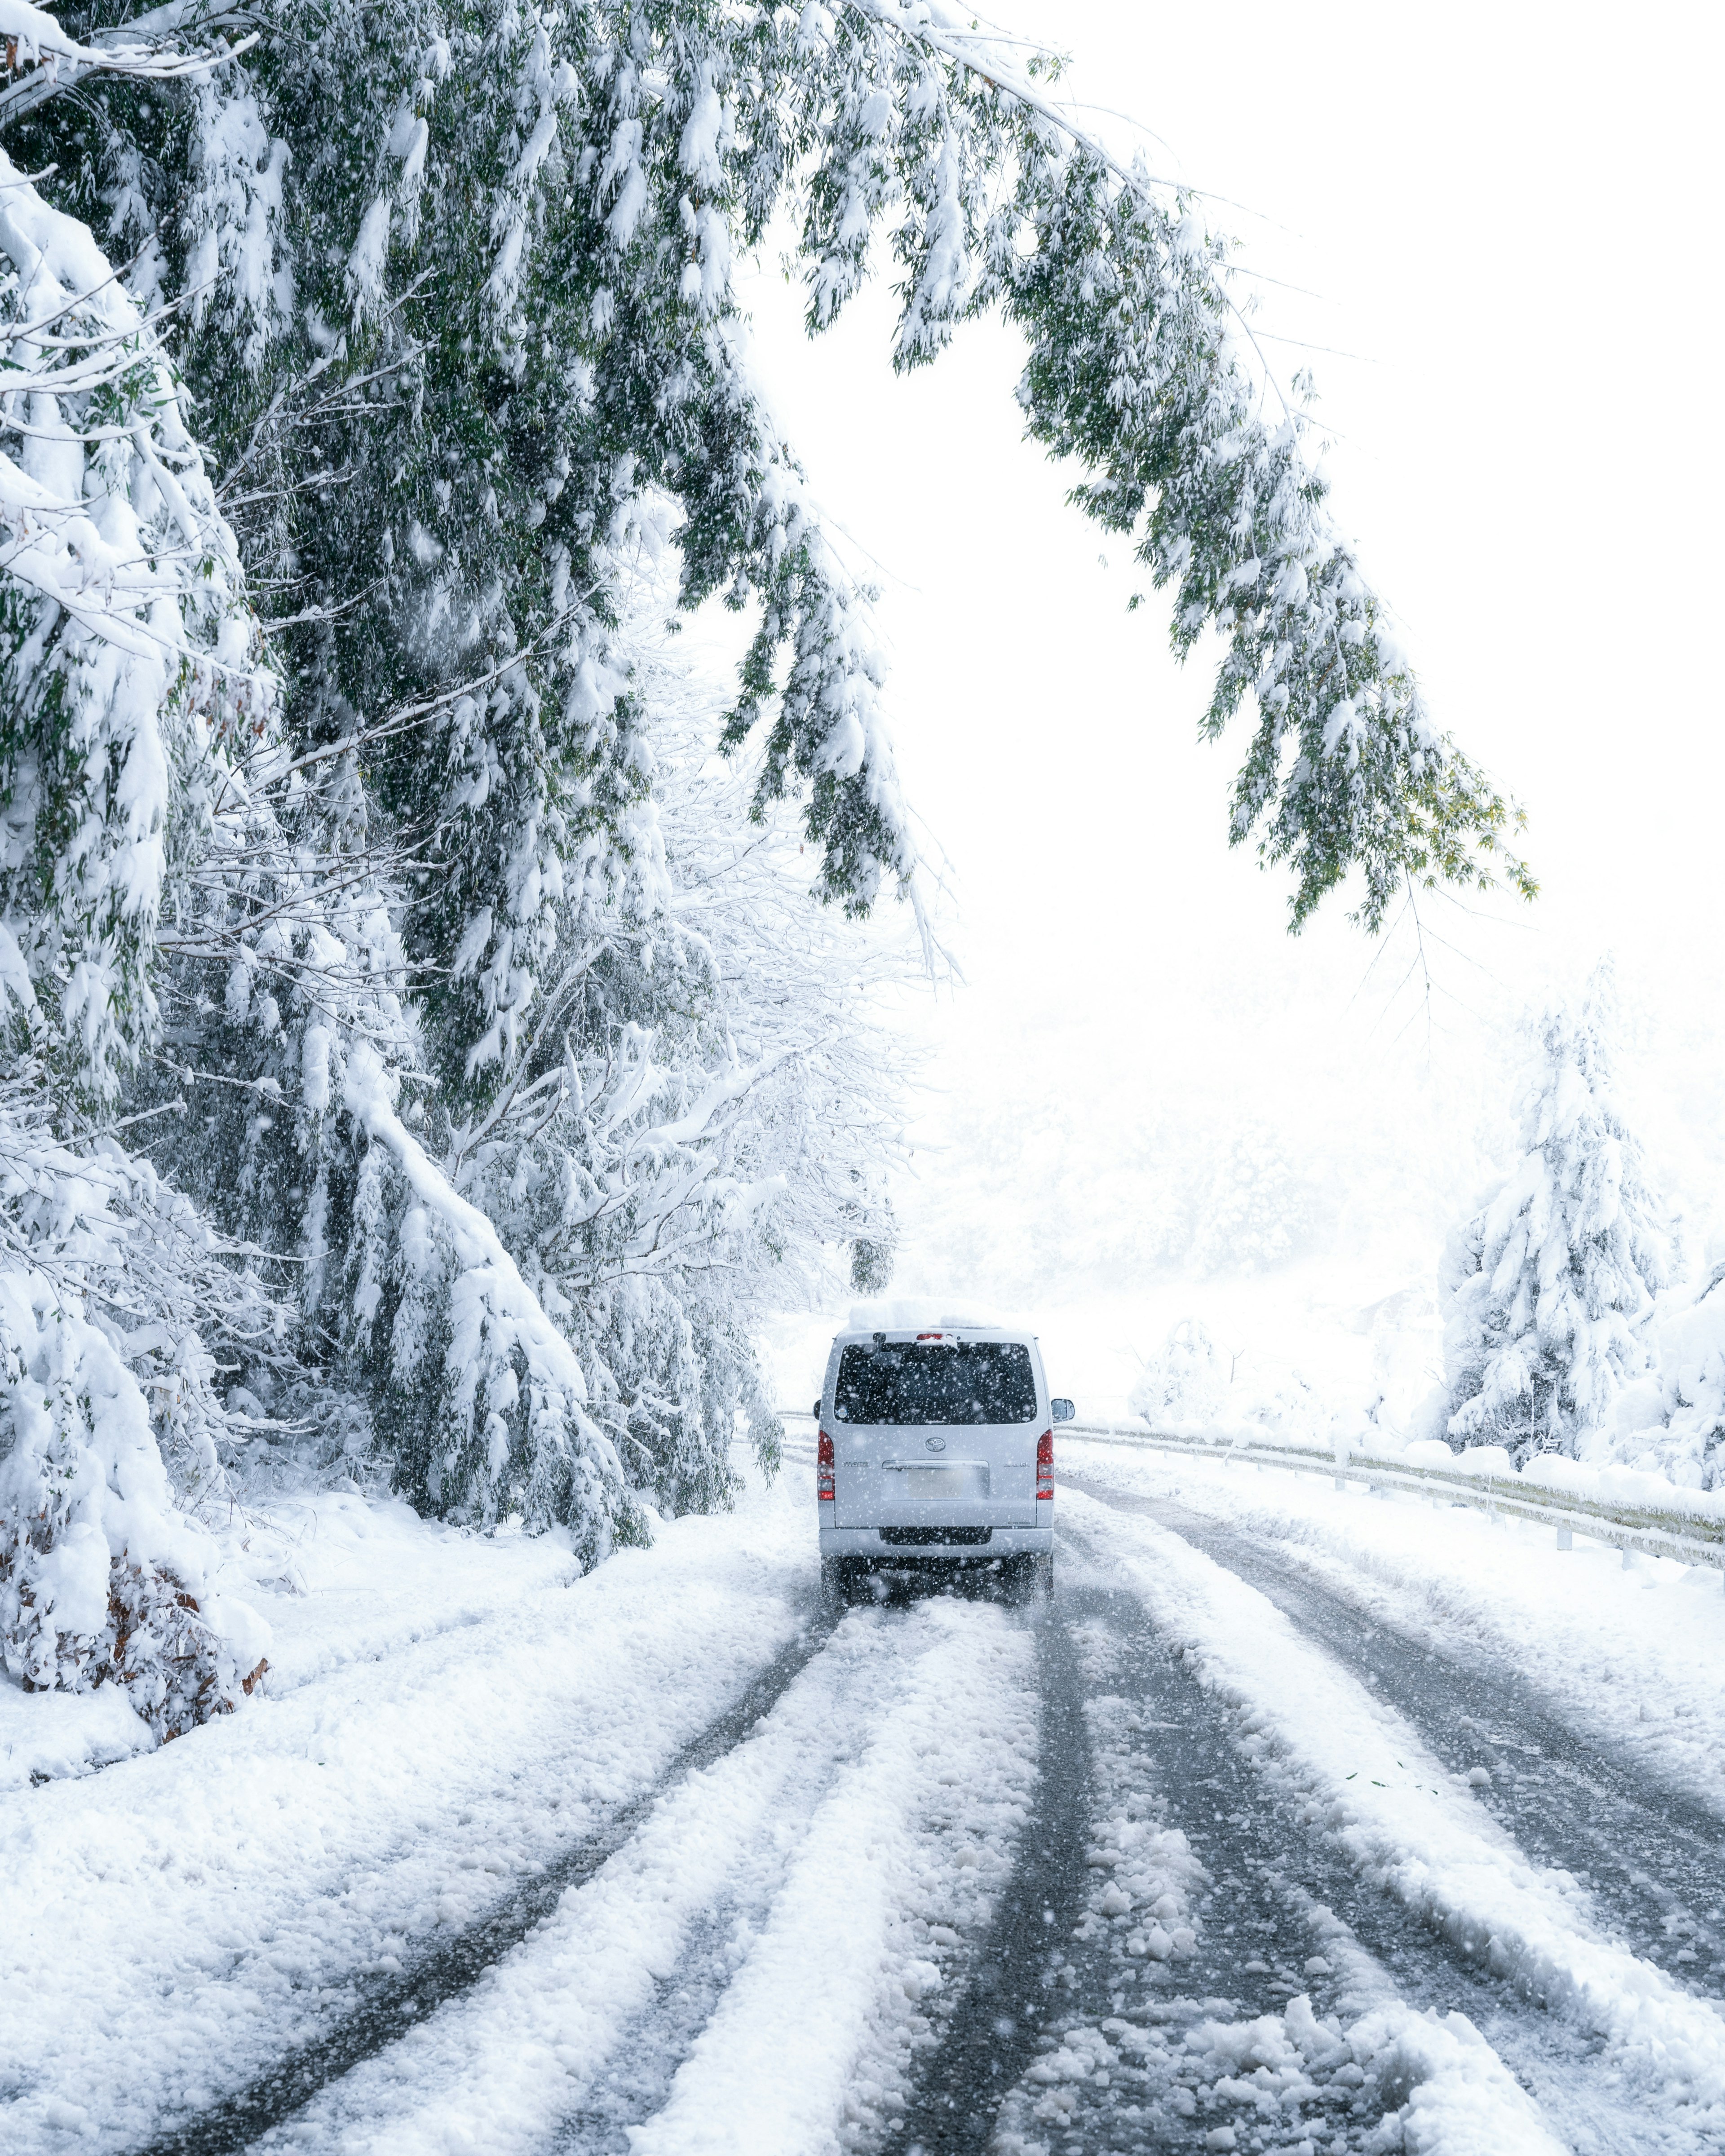
[[[1169,1429],[1113,1429],[1100,1423],[1063,1423],[1061,1436],[1089,1438],[1100,1445],[1154,1447],[1156,1451],[1190,1453],[1199,1460],[1246,1462],[1285,1468],[1294,1475],[1328,1475],[1337,1490],[1365,1483],[1369,1492],[1410,1490],[1434,1503],[1468,1505],[1475,1511],[1514,1520],[1537,1520],[1557,1529],[1557,1548],[1574,1548],[1574,1535],[1613,1544],[1628,1563],[1630,1550],[1647,1557],[1673,1557],[1682,1565],[1714,1565],[1725,1572],[1725,1520],[1688,1514],[1678,1507],[1611,1505],[1604,1498],[1544,1490],[1518,1475],[1468,1475],[1464,1468],[1425,1468],[1406,1460],[1371,1453],[1315,1453],[1298,1445],[1270,1445],[1255,1438],[1208,1440],[1184,1438]]]

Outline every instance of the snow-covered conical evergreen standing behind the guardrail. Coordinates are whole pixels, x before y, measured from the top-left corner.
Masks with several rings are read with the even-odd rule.
[[[1613,990],[1533,1026],[1520,1160],[1443,1263],[1449,1438],[1576,1453],[1647,1365],[1641,1332],[1671,1279],[1671,1222],[1611,1084]]]

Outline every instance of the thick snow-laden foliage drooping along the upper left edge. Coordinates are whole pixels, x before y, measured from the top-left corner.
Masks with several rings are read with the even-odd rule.
[[[155,1026],[175,815],[267,722],[274,675],[166,351],[4,151],[0,591],[0,918],[78,1091],[108,1097]]]

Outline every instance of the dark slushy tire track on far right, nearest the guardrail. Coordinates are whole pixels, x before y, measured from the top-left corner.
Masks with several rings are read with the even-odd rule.
[[[1725,1996],[1725,1822],[1578,1736],[1522,1680],[1350,1608],[1257,1537],[1171,1498],[1067,1475],[1227,1565],[1382,1692],[1540,1865],[1570,1871],[1624,1945],[1703,1999]]]

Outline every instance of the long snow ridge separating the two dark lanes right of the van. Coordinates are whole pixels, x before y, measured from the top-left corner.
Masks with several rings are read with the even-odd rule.
[[[1123,1473],[1143,1483],[1158,1470],[1134,1457]],[[1182,1496],[1190,1503],[1190,1485]],[[1292,1501],[1281,1488],[1264,1498]],[[1106,1550],[1158,1630],[1236,1710],[1244,1744],[1363,1874],[1412,1919],[1481,1949],[1499,1975],[1602,2037],[1650,2100],[1682,2109],[1690,2132],[1725,2126],[1725,2016],[1714,2005],[1604,1938],[1585,1891],[1531,1867],[1412,1727],[1257,1589],[1141,1516],[1072,1488],[1061,1503],[1067,1524]]]

